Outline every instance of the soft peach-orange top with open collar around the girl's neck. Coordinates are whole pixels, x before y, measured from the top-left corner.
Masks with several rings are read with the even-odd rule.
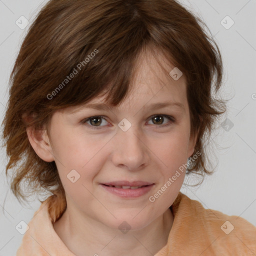
[[[16,256],[75,256],[52,225],[65,207],[66,202],[55,195],[43,201],[28,223]],[[244,218],[205,209],[181,192],[170,209],[174,221],[167,244],[154,256],[256,255],[256,227]]]

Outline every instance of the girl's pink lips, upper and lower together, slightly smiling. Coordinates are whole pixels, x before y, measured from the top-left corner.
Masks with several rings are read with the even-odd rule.
[[[107,192],[115,194],[122,198],[137,198],[139,196],[142,196],[142,195],[145,195],[146,193],[148,193],[154,185],[153,183],[148,183],[148,182],[146,182],[146,183],[147,184],[143,185],[142,187],[135,188],[135,189],[117,188],[114,186],[111,187],[111,186],[107,186],[106,184],[102,184],[102,183],[100,184],[100,186],[103,187],[103,189],[105,189]],[[120,183],[118,183],[118,184],[120,184]],[[125,184],[128,185],[127,182]],[[121,183],[121,185],[125,185],[125,184]],[[141,182],[140,183],[130,182],[129,184],[132,184],[129,186],[140,186]],[[134,185],[134,184],[136,184],[136,185]],[[110,182],[109,185],[113,185],[113,182]],[[115,185],[117,185],[117,184],[115,184]]]

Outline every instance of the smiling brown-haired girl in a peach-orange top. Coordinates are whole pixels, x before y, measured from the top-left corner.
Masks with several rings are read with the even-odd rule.
[[[20,255],[253,255],[255,227],[179,190],[208,174],[222,62],[175,0],[50,0],[11,73],[17,198],[48,191]]]

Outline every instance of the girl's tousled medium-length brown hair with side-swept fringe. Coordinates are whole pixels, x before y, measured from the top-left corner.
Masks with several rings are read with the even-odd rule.
[[[203,138],[225,103],[213,97],[222,83],[222,61],[204,27],[175,0],[50,0],[31,24],[10,75],[3,139],[9,156],[6,175],[15,167],[15,196],[28,194],[21,181],[29,182],[30,193],[42,188],[64,196],[55,162],[37,156],[26,127],[41,129],[57,109],[103,92],[110,104],[119,104],[130,89],[137,56],[149,46],[163,52],[186,78],[191,133],[198,131],[195,151],[201,153],[187,173],[210,174]],[[25,112],[35,117],[25,122]]]

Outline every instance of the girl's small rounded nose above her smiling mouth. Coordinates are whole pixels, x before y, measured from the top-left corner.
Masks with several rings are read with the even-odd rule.
[[[115,166],[138,170],[148,164],[150,158],[145,136],[135,126],[126,131],[118,129],[112,142],[112,162]]]

